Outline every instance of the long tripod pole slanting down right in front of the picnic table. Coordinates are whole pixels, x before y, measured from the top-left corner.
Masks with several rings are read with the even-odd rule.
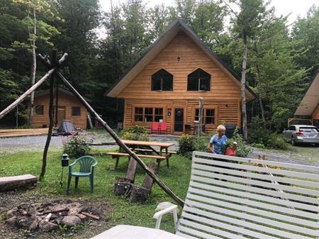
[[[154,179],[154,181],[158,184],[159,187],[161,187],[172,199],[174,199],[174,201],[177,202],[177,204],[184,206],[184,201],[182,199],[180,199],[177,195],[174,194],[173,191],[171,191],[171,189],[169,189],[160,179],[159,177],[157,177],[156,174],[154,174],[154,172],[152,172],[150,170],[149,167],[147,167],[147,165],[145,165],[145,163],[140,160],[140,158],[135,154],[135,152],[133,152],[132,150],[130,150],[130,148],[128,148],[128,146],[126,146],[120,138],[118,138],[118,135],[116,135],[116,133],[108,126],[108,124],[103,121],[103,119],[99,116],[98,113],[96,113],[96,111],[94,111],[94,109],[86,102],[86,100],[79,94],[79,92],[72,87],[72,84],[70,84],[67,79],[65,79],[65,77],[63,77],[63,75],[57,71],[57,77],[59,77],[62,82],[65,83],[65,85],[67,86],[67,88],[69,88],[70,91],[72,91],[72,93],[77,96],[77,99],[86,107],[86,109],[92,113],[97,121],[99,121],[99,123],[101,123],[101,126],[103,126],[103,128],[106,129],[106,131],[108,131],[108,133],[112,136],[112,138],[114,140],[116,140],[116,143],[123,148],[123,150],[125,150],[125,152],[128,153],[128,155],[130,155],[130,157],[133,157],[134,160],[136,160],[138,162],[138,164],[145,170],[145,172],[150,175],[150,177],[152,177],[152,179]]]

